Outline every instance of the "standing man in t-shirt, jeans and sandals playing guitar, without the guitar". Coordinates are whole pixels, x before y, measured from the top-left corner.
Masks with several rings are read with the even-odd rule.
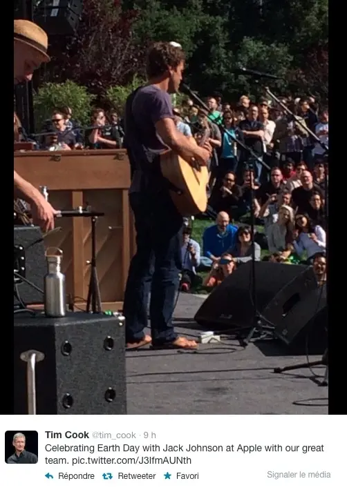
[[[212,148],[182,135],[173,118],[169,94],[178,91],[185,55],[177,43],[155,43],[148,54],[147,86],[126,101],[125,146],[131,164],[129,200],[135,217],[135,256],[124,295],[126,347],[192,349],[194,340],[178,337],[172,316],[181,270],[183,219],[173,205],[169,184],[160,172],[160,154],[168,148],[191,165],[206,166]],[[151,290],[151,337],[147,301]]]

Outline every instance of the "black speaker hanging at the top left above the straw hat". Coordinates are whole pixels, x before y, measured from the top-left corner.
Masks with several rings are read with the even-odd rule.
[[[38,4],[34,21],[49,36],[71,36],[77,31],[82,15],[82,0],[41,0]]]

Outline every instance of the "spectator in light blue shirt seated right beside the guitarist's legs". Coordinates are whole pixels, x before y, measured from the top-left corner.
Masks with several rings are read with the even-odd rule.
[[[191,228],[183,229],[182,279],[180,288],[187,292],[196,280],[196,268],[200,265],[200,244],[191,239]]]

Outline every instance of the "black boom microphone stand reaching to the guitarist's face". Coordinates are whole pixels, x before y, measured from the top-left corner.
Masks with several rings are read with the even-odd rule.
[[[197,101],[197,103],[203,107],[205,110],[211,113],[209,110],[208,106],[196,95],[195,92],[193,92],[189,87],[185,85],[185,83],[182,84],[182,87],[189,93],[191,96],[191,99],[194,99]],[[209,121],[212,121],[212,123],[216,124],[218,128],[223,129],[225,132],[227,132],[227,135],[236,143],[237,146],[243,148],[243,150],[246,150],[247,152],[250,153],[250,155],[258,162],[261,163],[262,166],[270,170],[270,166],[268,164],[265,164],[263,159],[256,155],[255,152],[248,146],[246,146],[242,141],[234,137],[234,135],[231,135],[229,130],[225,128],[223,124],[217,124],[216,121],[213,121],[211,117],[209,117]],[[266,332],[271,332],[273,333],[274,331],[274,326],[268,326],[266,320],[261,316],[261,314],[258,311],[258,306],[256,303],[256,258],[255,258],[255,244],[254,244],[254,230],[255,230],[255,216],[254,216],[254,164],[249,163],[247,164],[247,169],[251,171],[251,188],[250,188],[250,219],[251,219],[251,240],[252,240],[252,246],[251,246],[251,251],[252,251],[252,270],[251,270],[251,279],[250,282],[252,284],[250,291],[251,291],[251,297],[252,297],[252,307],[253,307],[253,317],[252,317],[252,323],[251,326],[248,328],[245,328],[246,330],[249,330],[249,335],[245,337],[243,340],[241,340],[241,346],[244,348],[249,344],[251,338],[254,336],[254,333],[259,332],[259,338],[263,338],[265,335],[267,335]],[[264,323],[265,322],[265,323]]]

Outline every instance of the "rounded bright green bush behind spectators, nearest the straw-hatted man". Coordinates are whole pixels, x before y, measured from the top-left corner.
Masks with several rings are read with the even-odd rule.
[[[68,80],[64,83],[44,83],[34,95],[34,112],[37,128],[52,115],[55,108],[68,106],[73,117],[86,125],[91,114],[91,105],[95,97],[85,87]]]

